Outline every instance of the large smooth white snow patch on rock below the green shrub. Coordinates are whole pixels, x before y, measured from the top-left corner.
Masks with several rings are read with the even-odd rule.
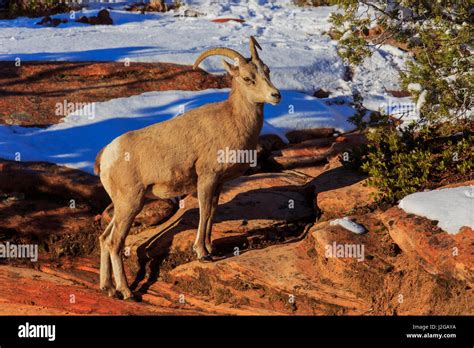
[[[399,207],[438,221],[438,227],[450,234],[463,226],[474,229],[474,185],[413,193],[403,198]]]

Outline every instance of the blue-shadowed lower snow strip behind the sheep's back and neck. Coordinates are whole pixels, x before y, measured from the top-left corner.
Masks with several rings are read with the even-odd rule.
[[[228,93],[228,89],[148,92],[96,103],[95,115],[79,110],[63,123],[46,129],[0,126],[0,157],[47,161],[92,173],[99,150],[117,136],[209,102],[223,101]],[[289,130],[334,127],[346,132],[354,128],[347,121],[353,114],[347,105],[328,106],[320,99],[292,91],[283,91],[282,97],[277,106],[265,105],[262,134],[277,134],[285,140],[284,134]],[[293,113],[289,114],[293,106]]]

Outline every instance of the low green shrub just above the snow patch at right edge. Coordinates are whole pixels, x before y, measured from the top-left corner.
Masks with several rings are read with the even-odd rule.
[[[442,128],[397,129],[387,122],[367,131],[368,144],[354,149],[343,165],[369,175],[368,184],[379,190],[378,202],[395,203],[404,196],[472,177],[470,127],[443,137]]]

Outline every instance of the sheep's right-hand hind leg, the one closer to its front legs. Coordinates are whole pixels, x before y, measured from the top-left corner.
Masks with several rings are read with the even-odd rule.
[[[113,233],[107,238],[106,243],[112,260],[116,290],[122,294],[124,300],[134,300],[135,298],[128,287],[125,275],[122,250],[133,220],[143,208],[144,192],[136,192],[131,196],[127,195],[120,202],[121,204],[114,204],[115,227]]]

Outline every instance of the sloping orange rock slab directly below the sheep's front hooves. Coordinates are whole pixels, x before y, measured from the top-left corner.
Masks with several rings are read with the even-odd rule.
[[[179,291],[221,308],[253,308],[253,314],[363,314],[367,302],[321,277],[308,240],[271,246],[212,264],[197,261],[167,273]]]

